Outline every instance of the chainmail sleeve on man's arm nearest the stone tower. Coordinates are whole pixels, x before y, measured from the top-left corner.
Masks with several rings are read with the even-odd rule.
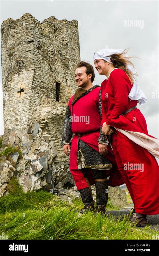
[[[61,146],[68,143],[71,144],[71,138],[72,138],[72,123],[70,122],[70,108],[67,106],[66,108],[66,115],[63,122],[63,133],[62,133],[62,140],[61,140]]]

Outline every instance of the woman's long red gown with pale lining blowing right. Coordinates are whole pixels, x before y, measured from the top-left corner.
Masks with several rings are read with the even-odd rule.
[[[112,147],[118,169],[126,183],[136,213],[159,214],[158,140],[148,134],[139,109],[122,116],[137,105],[128,97],[132,88],[126,73],[114,69],[101,84],[102,121],[115,128]]]

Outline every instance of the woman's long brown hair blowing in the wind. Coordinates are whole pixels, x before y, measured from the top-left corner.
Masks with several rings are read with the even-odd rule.
[[[133,63],[129,60],[130,58],[133,58],[135,56],[131,57],[125,57],[124,54],[127,53],[129,49],[125,49],[122,53],[112,54],[110,57],[110,61],[114,65],[115,68],[119,68],[125,71],[125,73],[128,75],[131,83],[133,83],[133,74],[137,75],[137,73],[130,72],[130,70],[127,69],[127,65],[131,65],[135,71]],[[138,58],[138,57],[136,57]]]

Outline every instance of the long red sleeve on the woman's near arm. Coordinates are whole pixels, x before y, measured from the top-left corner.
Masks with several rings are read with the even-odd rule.
[[[117,119],[127,109],[128,95],[132,87],[128,76],[123,70],[119,69],[114,73],[112,72],[110,79],[114,92],[115,106],[107,119],[108,125],[111,125],[111,119]]]

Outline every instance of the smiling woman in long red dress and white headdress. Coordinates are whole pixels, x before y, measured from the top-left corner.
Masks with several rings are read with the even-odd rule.
[[[134,203],[130,217],[137,226],[146,226],[146,215],[159,214],[159,141],[148,134],[143,114],[136,107],[147,99],[133,77],[133,64],[125,51],[103,49],[94,53],[100,75],[102,131],[112,136],[113,153],[118,169]]]

